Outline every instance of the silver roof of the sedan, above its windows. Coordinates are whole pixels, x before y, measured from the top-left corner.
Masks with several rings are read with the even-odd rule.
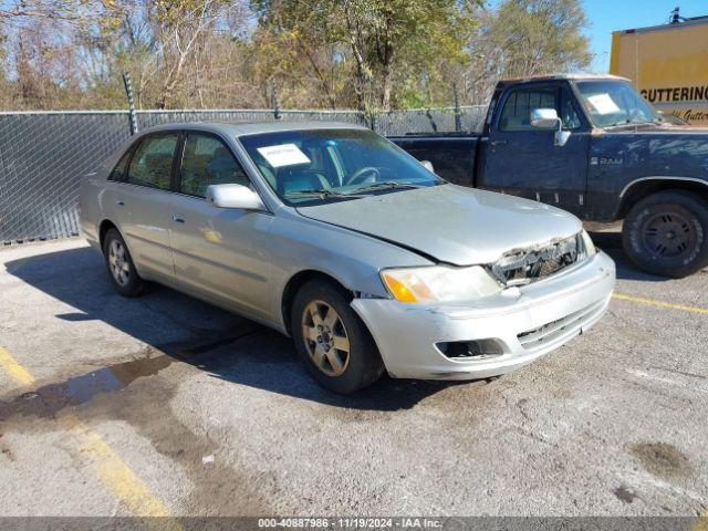
[[[164,129],[197,129],[219,133],[225,136],[256,135],[259,133],[280,133],[285,131],[309,131],[309,129],[367,129],[358,124],[347,124],[345,122],[178,122],[158,125],[144,129],[140,133],[149,133]]]

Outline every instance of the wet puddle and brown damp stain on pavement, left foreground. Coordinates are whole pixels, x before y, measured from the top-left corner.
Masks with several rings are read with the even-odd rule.
[[[82,420],[92,425],[126,423],[148,440],[155,451],[186,471],[190,487],[180,503],[187,514],[272,514],[274,509],[257,487],[261,472],[246,472],[243,467],[229,462],[228,451],[220,449],[216,434],[195,433],[185,425],[169,405],[177,388],[175,382],[167,377],[153,377],[176,362],[211,371],[222,363],[220,355],[211,357],[215,348],[260,330],[251,329],[236,337],[221,337],[208,344],[170,344],[159,350],[149,347],[140,353],[138,360],[45,385],[8,403],[0,402],[0,423],[14,417],[13,420],[18,421],[8,426],[8,430],[24,434],[53,430],[58,427],[45,418],[60,416],[64,407],[81,405],[79,414]],[[223,363],[232,361],[227,357]],[[126,392],[117,399],[112,393],[121,389]],[[126,434],[131,437],[129,431]],[[238,442],[230,438],[228,445]],[[205,462],[205,456],[215,456],[215,459]],[[0,435],[0,466],[3,459],[13,460],[14,456],[9,447],[3,446]],[[256,473],[258,476],[253,476]]]

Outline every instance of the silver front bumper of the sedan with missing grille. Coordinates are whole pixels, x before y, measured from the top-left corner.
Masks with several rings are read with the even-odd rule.
[[[355,299],[388,373],[398,378],[475,379],[508,373],[582,334],[607,310],[615,264],[604,252],[555,277],[465,303]],[[492,340],[490,358],[451,358],[441,342]]]

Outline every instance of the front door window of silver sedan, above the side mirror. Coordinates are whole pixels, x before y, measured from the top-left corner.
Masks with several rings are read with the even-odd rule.
[[[243,185],[250,181],[241,165],[219,138],[189,133],[181,159],[179,191],[206,197],[209,185]]]

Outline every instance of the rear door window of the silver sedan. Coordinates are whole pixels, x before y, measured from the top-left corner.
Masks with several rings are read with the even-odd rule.
[[[177,133],[144,138],[131,159],[126,183],[169,190],[178,138]]]

